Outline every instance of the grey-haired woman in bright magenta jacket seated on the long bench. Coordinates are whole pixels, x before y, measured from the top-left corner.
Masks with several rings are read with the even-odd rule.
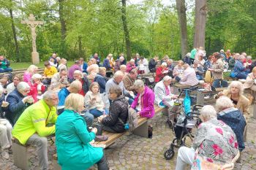
[[[134,88],[138,95],[131,107],[138,111],[140,117],[154,117],[154,92],[145,86],[142,80],[135,80]]]

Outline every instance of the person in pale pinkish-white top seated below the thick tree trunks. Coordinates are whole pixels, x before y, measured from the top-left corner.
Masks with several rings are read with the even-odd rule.
[[[195,74],[195,69],[192,69],[189,64],[185,63],[184,64],[184,72],[182,77],[176,77],[176,80],[181,84],[181,85],[197,85],[198,80]]]

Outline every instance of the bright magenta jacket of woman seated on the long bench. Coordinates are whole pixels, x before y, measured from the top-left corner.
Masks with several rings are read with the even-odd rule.
[[[135,109],[138,104],[139,96],[140,94],[138,94],[135,100],[132,102],[131,107],[133,109]],[[154,117],[154,92],[147,86],[145,87],[145,93],[141,98],[140,117]]]

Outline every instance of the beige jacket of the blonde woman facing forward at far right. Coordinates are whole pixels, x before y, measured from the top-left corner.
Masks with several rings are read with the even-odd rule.
[[[224,96],[231,98],[230,90],[223,90],[222,93]],[[243,112],[244,115],[249,115],[249,99],[246,98],[246,96],[240,96],[238,99],[238,103],[234,104],[234,107],[240,109],[240,111]]]

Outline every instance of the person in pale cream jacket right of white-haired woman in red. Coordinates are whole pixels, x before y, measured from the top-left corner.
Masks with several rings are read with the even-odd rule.
[[[67,81],[67,69],[61,69],[54,74],[50,81],[50,89],[66,88],[69,82]]]

